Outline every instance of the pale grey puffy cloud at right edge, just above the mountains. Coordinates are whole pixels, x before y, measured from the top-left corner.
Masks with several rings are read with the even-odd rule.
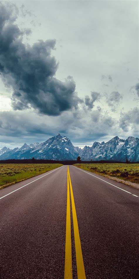
[[[121,113],[119,119],[119,127],[123,129],[123,131],[128,132],[130,128],[132,131],[138,134],[138,119],[139,119],[139,109],[134,107],[133,109],[129,110],[128,112]]]

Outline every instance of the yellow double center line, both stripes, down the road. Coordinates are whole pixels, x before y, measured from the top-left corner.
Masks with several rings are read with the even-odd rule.
[[[70,218],[70,194],[72,202],[72,217],[73,217],[73,228],[74,228],[74,241],[75,241],[75,252],[76,252],[76,263],[77,263],[77,275],[78,279],[86,279],[84,262],[82,257],[82,248],[79,237],[78,221],[74,203],[74,196],[72,191],[72,183],[69,174],[69,166],[67,167],[67,217],[66,217],[66,243],[65,243],[65,279],[72,279],[72,241],[71,241],[71,218]]]

